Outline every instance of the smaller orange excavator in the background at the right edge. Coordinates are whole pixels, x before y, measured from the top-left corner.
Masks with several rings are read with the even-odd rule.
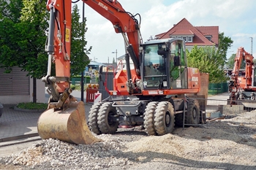
[[[245,76],[239,75],[241,62],[245,61]],[[256,68],[252,54],[247,53],[244,47],[239,47],[236,53],[233,72],[229,82],[230,102],[237,104],[238,100],[256,99]]]

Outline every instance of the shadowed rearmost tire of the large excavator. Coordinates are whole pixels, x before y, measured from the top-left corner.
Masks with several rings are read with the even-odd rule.
[[[185,115],[186,124],[199,124],[200,123],[200,107],[196,99],[189,98],[187,106],[187,114]]]

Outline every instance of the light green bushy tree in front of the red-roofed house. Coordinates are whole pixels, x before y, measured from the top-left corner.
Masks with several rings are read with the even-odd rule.
[[[187,50],[187,63],[189,67],[198,68],[200,72],[209,74],[209,82],[218,83],[227,80],[223,67],[222,56],[215,47],[197,47],[189,52]]]

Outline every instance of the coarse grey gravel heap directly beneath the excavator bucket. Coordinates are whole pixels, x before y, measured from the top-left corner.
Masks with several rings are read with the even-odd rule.
[[[44,139],[22,152],[0,158],[5,164],[47,169],[72,167],[72,169],[106,169],[110,166],[132,164],[127,158],[117,158],[124,144],[121,139],[108,134],[97,136],[103,140],[91,145],[69,144],[57,139]]]

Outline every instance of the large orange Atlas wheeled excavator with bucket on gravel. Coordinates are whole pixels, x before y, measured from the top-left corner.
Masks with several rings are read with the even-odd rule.
[[[187,67],[184,39],[143,43],[140,20],[136,19],[139,14],[126,12],[116,0],[83,2],[110,20],[116,33],[124,37],[127,69],[116,72],[111,97],[91,107],[87,125],[83,102],[70,95],[69,87],[72,1],[48,0],[48,74],[42,80],[48,85],[50,99],[37,123],[39,136],[92,144],[100,140],[91,131],[113,134],[119,125],[143,125],[148,135],[164,135],[173,131],[175,122],[200,123],[199,102],[186,96],[200,91],[200,72]],[[135,69],[130,69],[130,58]],[[52,62],[56,64],[55,77],[50,76]]]

